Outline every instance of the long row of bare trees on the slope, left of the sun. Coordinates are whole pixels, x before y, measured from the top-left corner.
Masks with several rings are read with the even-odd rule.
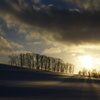
[[[9,63],[14,66],[46,70],[53,72],[73,73],[74,65],[64,63],[62,59],[47,57],[35,53],[21,53],[18,55],[9,55]]]

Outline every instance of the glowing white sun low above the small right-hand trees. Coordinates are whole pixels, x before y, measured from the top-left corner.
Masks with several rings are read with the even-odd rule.
[[[85,67],[86,69],[91,70],[93,68],[93,57],[90,55],[86,56],[79,56],[78,57],[81,65]]]

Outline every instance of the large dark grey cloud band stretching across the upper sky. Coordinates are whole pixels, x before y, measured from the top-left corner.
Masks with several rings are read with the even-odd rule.
[[[56,5],[40,5],[39,10],[29,0],[0,1],[0,13],[21,23],[53,34],[56,41],[72,44],[100,42],[100,12],[66,10]],[[73,0],[71,0],[73,1]],[[15,20],[16,21],[16,20]],[[55,34],[56,33],[56,34]]]

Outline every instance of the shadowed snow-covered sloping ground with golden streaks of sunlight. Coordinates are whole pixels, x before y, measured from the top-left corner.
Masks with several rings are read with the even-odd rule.
[[[100,100],[100,79],[1,64],[0,100]]]

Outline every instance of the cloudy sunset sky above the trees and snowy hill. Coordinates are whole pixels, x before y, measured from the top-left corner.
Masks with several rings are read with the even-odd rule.
[[[0,0],[0,63],[23,52],[100,69],[100,0]]]

